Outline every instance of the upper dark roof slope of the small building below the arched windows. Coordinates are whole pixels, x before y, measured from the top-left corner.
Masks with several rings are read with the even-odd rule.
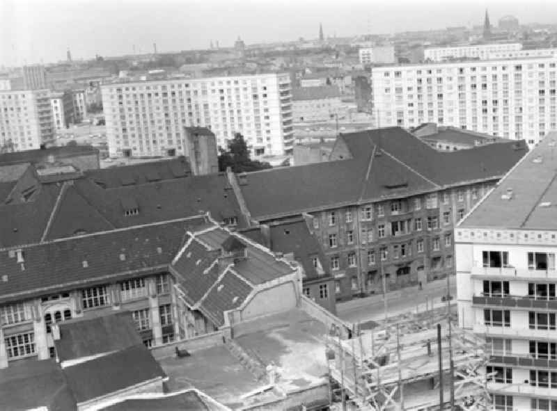
[[[59,327],[61,338],[54,345],[61,362],[142,344],[132,314],[127,311],[65,321]]]

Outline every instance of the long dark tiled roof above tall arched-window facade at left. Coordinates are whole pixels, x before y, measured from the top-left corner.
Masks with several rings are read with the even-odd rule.
[[[22,248],[22,264],[3,250],[0,301],[166,271],[187,230],[204,226],[204,218],[184,218],[38,243]]]

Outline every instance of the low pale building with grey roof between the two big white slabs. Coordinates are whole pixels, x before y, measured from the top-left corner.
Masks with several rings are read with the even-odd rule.
[[[292,116],[295,122],[330,121],[344,118],[346,107],[337,86],[292,89]]]

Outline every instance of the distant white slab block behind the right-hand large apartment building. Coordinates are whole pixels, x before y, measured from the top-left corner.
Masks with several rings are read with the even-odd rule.
[[[479,58],[485,60],[492,53],[503,53],[510,51],[519,51],[522,49],[520,43],[494,43],[491,45],[468,45],[457,47],[429,47],[423,50],[423,58],[425,61],[447,61],[457,58]]]

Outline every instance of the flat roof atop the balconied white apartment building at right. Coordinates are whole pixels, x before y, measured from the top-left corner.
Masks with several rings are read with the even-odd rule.
[[[557,229],[557,132],[501,179],[458,225],[462,228]]]

